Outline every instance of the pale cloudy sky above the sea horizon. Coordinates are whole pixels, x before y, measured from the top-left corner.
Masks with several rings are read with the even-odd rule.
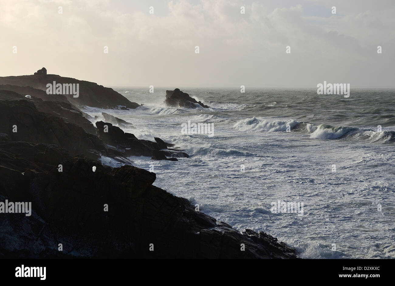
[[[395,87],[393,15],[394,0],[0,0],[0,76],[45,67],[104,86]]]

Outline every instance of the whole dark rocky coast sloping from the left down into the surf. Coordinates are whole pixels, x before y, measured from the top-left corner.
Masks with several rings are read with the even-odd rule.
[[[45,76],[51,75],[35,75]],[[175,161],[188,154],[159,137],[124,132],[132,122],[109,113],[95,126],[71,98],[43,98],[41,81],[26,77],[1,82],[0,201],[32,202],[32,214],[0,214],[0,257],[296,258],[294,249],[262,231],[240,232],[196,211],[127,159]],[[83,104],[135,106],[94,88],[107,93],[89,92]],[[102,156],[123,166],[104,166]]]

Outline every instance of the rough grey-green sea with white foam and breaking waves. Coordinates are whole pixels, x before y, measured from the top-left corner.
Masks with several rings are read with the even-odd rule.
[[[143,105],[82,110],[183,149],[190,158],[177,162],[129,159],[156,173],[155,186],[237,230],[264,231],[301,258],[395,258],[395,90],[354,88],[345,98],[316,88],[180,87],[210,106],[187,109],[164,104],[174,88],[113,87]],[[211,134],[185,132],[188,122]]]

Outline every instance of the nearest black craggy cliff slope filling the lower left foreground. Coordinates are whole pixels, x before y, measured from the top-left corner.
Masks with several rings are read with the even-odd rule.
[[[1,258],[296,258],[266,233],[195,211],[144,169],[104,167],[46,144],[0,143],[0,151],[0,201],[32,202],[31,216],[2,214]]]

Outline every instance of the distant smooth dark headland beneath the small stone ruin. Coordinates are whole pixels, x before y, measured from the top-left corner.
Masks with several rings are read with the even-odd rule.
[[[47,74],[45,77],[36,75],[20,75],[10,77],[0,77],[0,85],[16,85],[19,87],[32,87],[46,91],[47,84],[79,84],[79,97],[74,98],[73,94],[63,94],[70,103],[74,105],[87,105],[99,108],[136,108],[140,105],[130,102],[127,98],[119,94],[112,88],[103,87],[97,83],[80,81],[71,77],[61,77],[60,75]],[[32,95],[32,94],[30,94]],[[51,94],[56,98],[58,94]],[[55,101],[55,100],[54,100]]]

